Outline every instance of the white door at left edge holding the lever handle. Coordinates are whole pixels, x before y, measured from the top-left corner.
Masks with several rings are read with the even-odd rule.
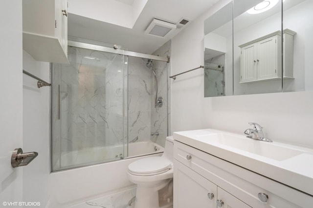
[[[0,18],[0,207],[4,207],[22,202],[22,169],[11,167],[12,151],[22,148],[22,0],[0,1]]]

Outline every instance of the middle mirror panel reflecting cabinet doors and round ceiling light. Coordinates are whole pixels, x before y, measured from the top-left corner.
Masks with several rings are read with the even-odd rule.
[[[234,0],[234,95],[282,92],[281,5]]]

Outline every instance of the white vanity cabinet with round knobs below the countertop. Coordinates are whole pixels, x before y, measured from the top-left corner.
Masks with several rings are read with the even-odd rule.
[[[308,194],[174,142],[174,208],[309,208],[312,203]]]

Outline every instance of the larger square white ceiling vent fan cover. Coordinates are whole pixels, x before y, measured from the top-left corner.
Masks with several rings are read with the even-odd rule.
[[[146,29],[145,34],[165,38],[169,34],[174,32],[175,29],[176,24],[162,21],[159,19],[153,19],[148,28]]]

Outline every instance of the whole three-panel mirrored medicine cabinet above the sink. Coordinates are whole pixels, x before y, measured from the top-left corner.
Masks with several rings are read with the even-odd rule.
[[[204,20],[204,97],[313,90],[313,0],[232,0]]]

